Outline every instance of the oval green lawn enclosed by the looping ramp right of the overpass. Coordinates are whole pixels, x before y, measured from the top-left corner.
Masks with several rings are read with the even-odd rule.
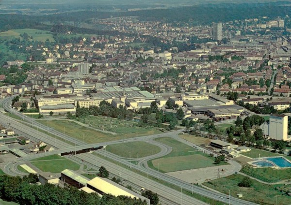
[[[161,151],[159,146],[154,146],[146,142],[129,142],[106,146],[106,150],[120,157],[142,158],[157,154]]]

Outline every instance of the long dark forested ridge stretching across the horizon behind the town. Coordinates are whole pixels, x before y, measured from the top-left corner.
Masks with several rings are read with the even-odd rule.
[[[49,26],[40,24],[41,21],[61,23],[63,21],[84,22],[89,18],[110,18],[118,16],[139,16],[140,20],[164,20],[168,22],[188,22],[192,19],[197,24],[210,24],[211,22],[226,22],[254,18],[263,15],[269,17],[291,16],[290,2],[272,3],[243,3],[243,4],[209,4],[189,6],[182,8],[143,10],[132,12],[72,12],[56,15],[0,15],[0,30],[9,29],[44,29]],[[283,6],[285,5],[285,6]]]

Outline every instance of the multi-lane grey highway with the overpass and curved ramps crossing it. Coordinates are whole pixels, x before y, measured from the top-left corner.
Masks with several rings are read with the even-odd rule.
[[[21,118],[24,119],[24,121],[27,122],[31,122],[33,124],[33,127],[37,127],[38,129],[41,129],[43,131],[47,131],[48,127],[44,126],[40,123],[37,123],[34,119],[27,117],[27,116],[22,116],[22,114],[18,113],[17,111],[13,110],[10,106],[11,103],[11,99],[12,98],[7,98],[2,102],[2,106],[6,111],[9,111],[11,113],[13,113],[14,115],[17,115]],[[9,119],[8,119],[9,118]],[[49,153],[44,153],[44,154],[34,154],[34,155],[29,155],[26,158],[22,158],[22,159],[17,159],[17,161],[13,161],[10,162],[9,164],[7,164],[4,168],[4,172],[6,174],[15,176],[15,175],[19,175],[19,171],[17,171],[17,166],[18,164],[21,164],[25,161],[29,161],[35,158],[39,158],[41,156],[48,156],[51,154],[56,154],[56,153],[61,153],[61,152],[68,152],[68,151],[74,151],[74,150],[78,150],[78,149],[83,149],[83,148],[89,148],[92,146],[106,146],[106,145],[110,145],[110,144],[116,144],[116,143],[123,143],[123,142],[133,142],[133,141],[145,141],[145,142],[150,142],[153,144],[156,144],[157,142],[153,141],[154,138],[157,137],[162,137],[162,136],[174,136],[175,134],[177,134],[180,131],[175,131],[175,132],[165,132],[162,134],[157,134],[157,135],[150,135],[150,136],[143,136],[143,137],[136,137],[136,138],[131,138],[131,139],[126,139],[126,140],[117,140],[117,141],[113,141],[113,142],[106,142],[106,143],[97,143],[94,145],[83,145],[83,142],[76,140],[74,138],[71,138],[69,136],[66,136],[64,133],[58,132],[56,130],[50,129],[49,132],[55,136],[60,136],[64,139],[66,139],[67,141],[70,141],[74,144],[76,144],[76,146],[71,146],[68,145],[65,141],[63,140],[59,140],[57,138],[52,138],[51,136],[41,133],[39,134],[39,132],[37,132],[35,129],[32,129],[31,127],[27,126],[25,123],[19,123],[18,121],[7,117],[5,115],[0,114],[0,123],[2,123],[3,125],[10,123],[10,127],[13,128],[14,130],[17,131],[17,133],[23,134],[25,136],[29,136],[32,139],[36,139],[37,140],[42,140],[52,146],[55,146],[55,148],[57,148],[58,150],[55,150],[53,152],[49,152]],[[160,146],[157,144],[157,146]],[[167,147],[162,148],[162,151],[157,154],[155,156],[155,158],[157,157],[161,157],[163,155],[165,155],[166,153],[169,152],[169,149]],[[125,159],[120,159],[119,157],[108,153],[103,150],[103,151],[98,151],[99,154],[105,155],[108,159],[112,159],[114,161],[119,161],[121,164],[127,165],[129,166],[129,161],[125,160]],[[191,196],[188,196],[184,193],[181,193],[181,191],[178,190],[173,190],[169,187],[166,187],[164,185],[162,185],[161,183],[158,183],[157,181],[154,180],[148,180],[148,178],[146,176],[141,176],[137,173],[135,173],[135,170],[139,170],[143,173],[148,173],[149,176],[153,176],[155,178],[160,178],[160,180],[172,183],[177,185],[178,187],[181,187],[182,190],[188,190],[190,192],[197,193],[200,195],[203,195],[205,197],[211,198],[211,199],[215,199],[217,201],[221,201],[224,202],[226,204],[228,204],[228,195],[226,194],[222,194],[216,191],[211,191],[211,190],[206,190],[202,187],[199,186],[193,186],[190,183],[181,181],[177,178],[171,177],[171,176],[167,176],[164,175],[162,173],[159,173],[156,170],[152,170],[152,169],[147,169],[144,166],[140,166],[140,165],[136,165],[136,164],[131,164],[131,168],[135,169],[135,170],[129,170],[126,168],[123,168],[122,166],[118,166],[115,163],[112,163],[110,161],[107,161],[103,158],[99,158],[94,156],[94,154],[91,153],[84,153],[84,154],[79,154],[79,155],[74,155],[74,156],[69,156],[69,158],[73,159],[74,161],[80,161],[83,159],[86,163],[91,164],[91,165],[97,165],[97,167],[99,167],[100,165],[104,165],[110,173],[112,173],[115,176],[121,176],[123,179],[127,179],[130,183],[133,183],[136,186],[139,187],[145,187],[147,188],[147,186],[149,187],[150,190],[157,192],[160,196],[162,196],[162,198],[164,199],[164,201],[162,201],[164,204],[184,204],[184,205],[203,205],[205,203],[194,199]],[[148,158],[151,159],[151,158]],[[22,173],[23,175],[23,173]],[[148,185],[147,185],[148,184]],[[222,197],[222,198],[221,198]],[[171,200],[171,202],[167,203],[166,201]],[[254,203],[251,202],[246,202],[244,200],[241,199],[237,199],[237,198],[233,198],[231,197],[231,204],[233,205],[254,205]]]

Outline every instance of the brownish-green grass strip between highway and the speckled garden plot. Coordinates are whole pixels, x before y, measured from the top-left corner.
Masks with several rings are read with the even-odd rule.
[[[49,124],[50,128],[54,128],[59,132],[65,132],[65,134],[79,139],[81,141],[92,144],[92,143],[99,143],[99,142],[108,142],[120,139],[127,139],[136,136],[144,136],[144,135],[152,135],[155,133],[160,133],[160,131],[154,128],[140,128],[136,127],[134,129],[136,132],[132,132],[130,128],[124,129],[124,132],[127,130],[128,133],[126,134],[109,134],[105,132],[99,132],[93,129],[89,129],[87,127],[81,126],[76,122],[72,122],[69,120],[37,120],[38,122],[42,123],[43,125]],[[122,128],[120,128],[122,129]],[[138,131],[140,130],[140,132]]]

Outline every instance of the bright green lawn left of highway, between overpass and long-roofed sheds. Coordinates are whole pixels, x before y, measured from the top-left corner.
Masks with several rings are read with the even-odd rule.
[[[31,163],[43,172],[60,173],[65,169],[79,170],[80,165],[59,155],[42,157]]]

